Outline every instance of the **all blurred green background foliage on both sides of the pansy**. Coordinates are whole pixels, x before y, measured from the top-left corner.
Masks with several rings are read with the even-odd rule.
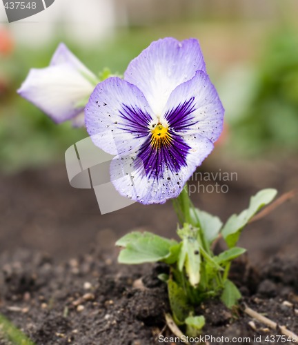
[[[194,27],[196,30],[193,32],[201,36],[207,32],[201,27],[200,30],[197,26]],[[166,36],[183,39],[189,36],[189,32],[177,23],[175,26],[126,28],[106,41],[88,47],[65,41],[57,34],[51,43],[40,47],[38,51],[19,43],[12,56],[5,59],[0,57],[0,170],[13,172],[63,161],[65,150],[74,142],[87,137],[85,129],[72,128],[70,124],[53,124],[43,112],[19,97],[16,92],[30,68],[48,66],[61,41],[93,72],[99,73],[108,67],[113,73],[122,74],[131,59],[139,55],[151,41]],[[230,107],[237,114],[237,118],[229,123],[228,106],[226,107],[228,141],[231,150],[238,150],[241,155],[259,155],[272,149],[298,148],[297,30],[281,30],[279,27],[264,42],[264,48],[255,47],[257,50],[261,48],[263,55],[252,68],[252,82],[236,81],[232,88],[226,85],[226,92],[231,99]],[[216,59],[219,60],[220,57]],[[226,67],[226,72],[229,74],[228,68],[230,67]],[[210,59],[208,72],[212,74]],[[215,75],[211,77],[212,80],[218,78]],[[236,106],[235,98],[239,91],[244,95]]]

